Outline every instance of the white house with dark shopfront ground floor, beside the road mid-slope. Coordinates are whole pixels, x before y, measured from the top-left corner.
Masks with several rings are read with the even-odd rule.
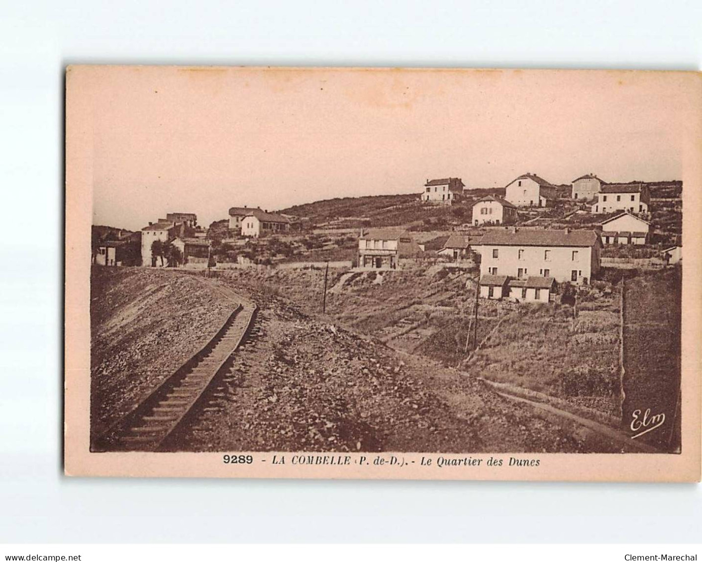
[[[400,259],[418,256],[422,249],[405,231],[371,228],[358,240],[358,266],[373,269],[397,269]]]

